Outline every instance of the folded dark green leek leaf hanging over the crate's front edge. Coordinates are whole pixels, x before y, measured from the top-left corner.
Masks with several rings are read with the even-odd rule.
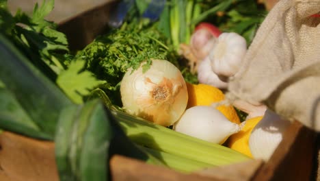
[[[163,165],[124,135],[98,99],[69,106],[59,117],[55,156],[60,180],[108,180],[109,158],[120,154]]]

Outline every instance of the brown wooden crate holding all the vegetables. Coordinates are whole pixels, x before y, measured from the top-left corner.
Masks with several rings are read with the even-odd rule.
[[[59,23],[58,29],[68,36],[70,49],[85,47],[107,29],[114,3],[111,1]],[[320,180],[316,174],[319,140],[319,133],[295,121],[268,162],[252,160],[189,174],[117,155],[109,164],[112,180]],[[54,147],[53,142],[1,133],[0,180],[59,180]]]

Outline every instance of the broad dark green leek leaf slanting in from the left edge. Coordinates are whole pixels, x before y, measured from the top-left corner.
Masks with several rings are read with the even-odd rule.
[[[2,34],[0,52],[0,80],[34,123],[31,126],[25,121],[18,123],[2,117],[1,128],[52,140],[59,112],[71,101]]]

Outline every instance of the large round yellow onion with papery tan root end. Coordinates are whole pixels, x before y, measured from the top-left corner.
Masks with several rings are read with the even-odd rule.
[[[152,60],[145,73],[142,66],[129,69],[122,78],[124,110],[159,125],[172,125],[187,107],[187,86],[181,71],[167,60]]]

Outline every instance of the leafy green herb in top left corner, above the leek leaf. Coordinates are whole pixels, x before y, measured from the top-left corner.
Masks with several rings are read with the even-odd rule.
[[[66,69],[64,54],[68,53],[68,41],[57,25],[44,17],[53,10],[54,0],[36,3],[32,16],[18,10],[13,16],[6,0],[0,0],[0,33],[4,34],[25,56],[51,80]]]

